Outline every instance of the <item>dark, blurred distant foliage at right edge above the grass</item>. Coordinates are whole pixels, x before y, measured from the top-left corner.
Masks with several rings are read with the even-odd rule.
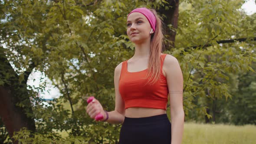
[[[256,65],[254,63],[254,69]],[[255,72],[241,73],[238,77],[238,88],[228,101],[230,121],[234,124],[256,124],[256,75]],[[240,115],[237,115],[240,113]]]

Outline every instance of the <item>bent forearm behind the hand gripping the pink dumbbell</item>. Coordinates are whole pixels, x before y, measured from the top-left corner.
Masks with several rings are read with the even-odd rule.
[[[104,115],[104,120],[106,115]],[[108,111],[108,123],[111,124],[122,124],[124,122],[125,115],[120,114],[118,111]]]

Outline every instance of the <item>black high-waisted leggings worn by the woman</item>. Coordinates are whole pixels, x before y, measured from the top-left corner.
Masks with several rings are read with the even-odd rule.
[[[171,144],[171,122],[167,114],[125,117],[118,144]]]

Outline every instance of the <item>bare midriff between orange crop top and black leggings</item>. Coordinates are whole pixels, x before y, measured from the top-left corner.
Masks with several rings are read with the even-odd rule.
[[[125,110],[125,117],[128,118],[143,118],[151,117],[154,115],[166,114],[166,110],[158,108],[138,108],[132,107]]]

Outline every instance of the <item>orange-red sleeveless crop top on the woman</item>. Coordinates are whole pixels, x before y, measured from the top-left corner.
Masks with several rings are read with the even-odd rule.
[[[162,73],[166,55],[167,54],[161,55],[161,81],[158,80],[153,85],[145,85],[148,82],[148,79],[145,79],[148,69],[139,72],[128,72],[128,60],[122,63],[119,79],[119,92],[125,101],[125,109],[131,107],[144,107],[166,110],[169,91],[166,77]]]

